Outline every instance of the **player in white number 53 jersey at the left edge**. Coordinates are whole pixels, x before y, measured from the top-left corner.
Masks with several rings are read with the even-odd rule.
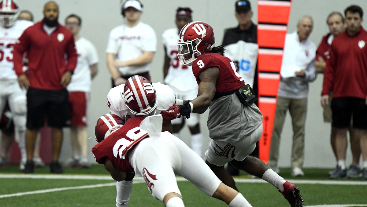
[[[15,0],[2,0],[0,2],[0,114],[8,101],[13,114],[15,126],[15,140],[21,151],[20,169],[26,162],[25,132],[26,132],[26,90],[21,89],[18,77],[13,70],[13,46],[23,31],[32,22],[17,20],[19,6]]]

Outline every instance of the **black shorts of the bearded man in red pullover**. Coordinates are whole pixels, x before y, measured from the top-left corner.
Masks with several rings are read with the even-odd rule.
[[[62,128],[69,121],[68,91],[29,88],[27,92],[27,128],[39,129],[47,125]]]

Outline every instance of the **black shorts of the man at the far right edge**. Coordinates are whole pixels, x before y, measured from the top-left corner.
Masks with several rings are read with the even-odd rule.
[[[353,127],[367,129],[367,106],[365,99],[355,97],[333,98],[331,110],[333,111],[332,125],[334,127],[349,127],[350,119],[353,115]]]

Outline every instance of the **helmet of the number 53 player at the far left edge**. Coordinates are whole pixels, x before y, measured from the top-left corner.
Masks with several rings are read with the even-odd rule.
[[[2,0],[0,2],[0,24],[3,27],[12,27],[17,21],[19,6],[15,0]]]

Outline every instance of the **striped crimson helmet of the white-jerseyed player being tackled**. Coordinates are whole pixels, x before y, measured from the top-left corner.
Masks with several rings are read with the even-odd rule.
[[[123,98],[132,114],[148,116],[156,112],[156,90],[152,83],[142,76],[134,75],[126,81]]]

